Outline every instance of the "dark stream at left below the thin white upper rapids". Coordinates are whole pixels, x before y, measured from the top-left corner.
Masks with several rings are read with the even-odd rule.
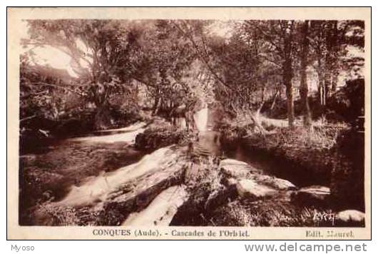
[[[136,151],[133,142],[145,126],[145,123],[135,123],[126,128],[55,140],[48,146],[35,147],[33,152],[21,154],[20,223],[29,223],[28,210],[51,198],[52,203],[62,202],[62,199],[71,203],[91,203],[84,202],[83,195],[88,195],[90,200],[101,199],[117,180],[111,177],[111,171],[138,161],[143,163],[140,160],[145,153]],[[103,179],[108,184],[101,181]],[[89,183],[98,188],[83,188]]]

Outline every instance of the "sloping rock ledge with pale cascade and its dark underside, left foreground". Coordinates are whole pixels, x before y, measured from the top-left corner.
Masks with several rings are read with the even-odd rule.
[[[81,186],[73,186],[65,198],[51,203],[51,206],[56,209],[86,207],[90,213],[98,213],[96,221],[93,222],[96,225],[121,225],[129,214],[144,210],[160,193],[171,186],[183,183],[184,171],[189,164],[183,149],[160,148],[144,156],[138,163],[103,173],[89,179]],[[174,190],[185,193],[182,187],[169,190],[166,193]],[[163,198],[166,195],[168,194],[163,195]],[[177,199],[178,202],[180,197],[181,195]],[[170,209],[171,203],[165,203],[164,207],[155,206],[156,203],[157,201],[154,203],[154,209],[164,210],[165,206],[169,206],[166,211],[169,215],[174,214],[174,209]],[[150,210],[148,213],[143,213],[143,216],[150,214]],[[131,218],[133,216],[131,215]],[[161,217],[156,218],[158,223],[169,223],[170,216]],[[142,217],[138,216],[138,218]],[[144,223],[147,221],[144,218],[136,221]]]

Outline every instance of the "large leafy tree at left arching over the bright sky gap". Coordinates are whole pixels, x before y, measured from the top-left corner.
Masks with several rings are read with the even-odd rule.
[[[73,71],[96,104],[96,128],[108,124],[111,93],[124,90],[138,60],[141,28],[128,21],[31,20],[24,46],[53,46],[71,56]]]

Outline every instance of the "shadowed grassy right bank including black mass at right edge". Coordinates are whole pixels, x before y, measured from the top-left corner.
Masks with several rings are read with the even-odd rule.
[[[340,123],[310,129],[273,126],[265,135],[254,133],[252,127],[220,128],[223,147],[230,148],[228,156],[266,168],[297,186],[330,187],[337,210],[364,210],[363,132]]]

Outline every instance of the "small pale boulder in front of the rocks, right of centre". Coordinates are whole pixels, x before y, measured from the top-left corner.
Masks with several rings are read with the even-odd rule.
[[[265,198],[275,195],[277,191],[274,189],[257,183],[251,179],[242,179],[236,184],[237,193],[242,198]]]

